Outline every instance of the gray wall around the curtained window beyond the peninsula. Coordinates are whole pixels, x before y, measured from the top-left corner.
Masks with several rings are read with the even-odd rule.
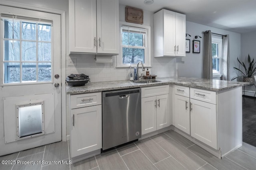
[[[186,57],[177,59],[178,64],[178,76],[198,77],[202,78],[202,61],[203,61],[203,31],[211,30],[213,33],[218,34],[229,34],[230,36],[230,77],[236,76],[236,72],[233,67],[236,64],[236,58],[240,57],[240,33],[234,33],[223,29],[217,29],[214,27],[208,27],[198,23],[186,21],[186,33],[190,34],[191,37],[187,36],[186,39],[190,39],[190,53],[186,53]],[[199,35],[202,38],[195,39],[195,36]],[[200,53],[192,53],[192,41],[200,41]]]

